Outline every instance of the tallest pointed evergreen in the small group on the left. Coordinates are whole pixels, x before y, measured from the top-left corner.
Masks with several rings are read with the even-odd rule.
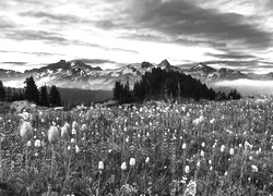
[[[27,77],[24,83],[26,84],[25,95],[24,95],[25,99],[28,101],[34,101],[35,103],[38,103],[39,93],[38,93],[38,88],[35,84],[33,76]]]

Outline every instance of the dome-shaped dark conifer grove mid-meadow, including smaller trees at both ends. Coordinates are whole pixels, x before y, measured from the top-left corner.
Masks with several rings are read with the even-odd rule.
[[[112,90],[114,99],[121,103],[144,99],[227,100],[240,98],[236,90],[232,90],[227,96],[224,93],[216,94],[212,88],[207,88],[205,84],[190,75],[161,68],[154,68],[152,72],[142,75],[142,78],[134,83],[132,90],[130,90],[129,79],[126,84],[117,81]]]

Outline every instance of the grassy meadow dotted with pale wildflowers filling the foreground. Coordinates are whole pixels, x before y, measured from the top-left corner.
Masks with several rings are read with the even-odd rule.
[[[270,195],[273,101],[36,109],[0,118],[0,195]]]

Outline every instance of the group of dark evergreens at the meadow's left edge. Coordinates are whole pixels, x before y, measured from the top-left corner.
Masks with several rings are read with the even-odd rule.
[[[4,87],[2,81],[0,81],[0,101],[27,100],[43,107],[62,106],[61,95],[55,85],[50,88],[46,85],[38,88],[33,76],[27,77],[24,84],[23,89],[11,88]]]

